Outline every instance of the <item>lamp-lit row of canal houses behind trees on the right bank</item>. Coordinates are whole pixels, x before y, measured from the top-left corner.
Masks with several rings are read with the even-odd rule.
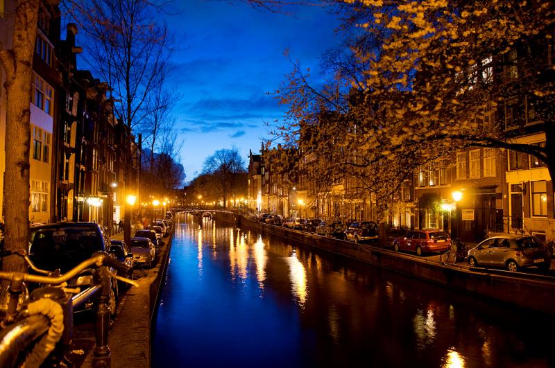
[[[547,62],[555,65],[555,56],[547,54]],[[509,52],[506,57],[514,59],[515,54]],[[513,143],[545,147],[545,126],[527,98],[515,96],[492,108],[483,123],[495,121],[502,123],[505,136]],[[361,191],[355,177],[341,177],[321,191],[316,186],[318,177],[311,175],[309,157],[301,161],[308,174],[291,182],[287,174],[281,175],[264,161],[264,147],[260,155],[250,152],[250,209],[288,218],[382,222],[373,193]],[[469,242],[495,233],[533,234],[554,240],[552,178],[545,164],[530,155],[497,148],[465,148],[420,166],[405,180],[391,198],[387,223],[396,229],[439,228]]]

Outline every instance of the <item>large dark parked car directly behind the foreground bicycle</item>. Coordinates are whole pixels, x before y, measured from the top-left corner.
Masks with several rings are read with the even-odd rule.
[[[109,252],[110,240],[96,222],[58,222],[29,227],[29,258],[42,270],[59,269],[65,273],[99,251]],[[67,287],[85,290],[92,283],[92,274],[83,273],[67,281]],[[115,278],[112,278],[111,291],[109,305],[113,316],[118,295]],[[93,309],[94,301],[85,301],[83,307],[75,311]]]

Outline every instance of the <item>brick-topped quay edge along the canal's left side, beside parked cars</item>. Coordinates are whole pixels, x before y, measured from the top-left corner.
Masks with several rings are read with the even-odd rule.
[[[132,286],[119,301],[114,326],[108,333],[112,367],[151,367],[152,322],[167,271],[173,234],[175,229],[160,249],[155,267],[145,270],[146,276],[138,280],[139,287]],[[93,351],[83,367],[92,366]]]

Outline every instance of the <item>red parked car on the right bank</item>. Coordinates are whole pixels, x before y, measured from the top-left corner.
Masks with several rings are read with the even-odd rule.
[[[404,236],[393,239],[396,252],[408,250],[418,256],[429,252],[444,252],[451,247],[451,238],[440,229],[411,230]]]

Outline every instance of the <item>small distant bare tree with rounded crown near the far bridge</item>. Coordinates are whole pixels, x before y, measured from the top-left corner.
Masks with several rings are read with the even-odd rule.
[[[239,175],[246,173],[245,160],[237,147],[214,152],[204,161],[203,174],[213,175],[216,189],[223,199],[223,207],[227,206],[228,195],[232,194]]]

